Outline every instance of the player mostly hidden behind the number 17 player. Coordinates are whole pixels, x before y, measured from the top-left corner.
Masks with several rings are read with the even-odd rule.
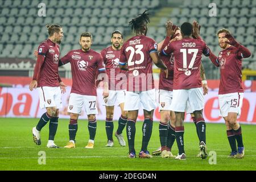
[[[167,21],[166,26],[171,26],[170,20]],[[193,23],[193,28],[198,26],[198,23],[195,21]],[[199,28],[200,29],[200,28]],[[167,46],[168,43],[173,42],[175,40],[181,40],[181,32],[178,28],[175,32],[175,35],[171,38],[170,33],[168,32],[170,28],[167,27],[167,36],[162,42],[158,44],[158,49],[164,46]],[[195,32],[195,31],[193,31]],[[199,32],[198,35],[193,34],[193,38],[199,39]],[[173,88],[173,80],[174,80],[174,56],[165,56],[160,54],[160,58],[164,61],[164,64],[168,67],[168,78],[166,78],[164,71],[160,71],[159,77],[159,110],[160,110],[160,123],[159,123],[159,137],[161,147],[159,147],[156,151],[152,152],[152,155],[161,155],[162,158],[175,158],[174,155],[171,153],[172,145],[174,144],[175,140],[175,112],[170,110],[170,105],[172,102],[172,88]],[[201,64],[200,67],[200,76],[202,79],[203,85],[203,92],[204,95],[208,93],[208,85],[205,77],[204,67]],[[187,103],[186,113],[191,114],[193,122],[196,126],[196,119],[195,115],[191,111],[189,102]],[[196,130],[197,131],[197,130]],[[199,132],[197,131],[197,137],[200,140]],[[199,141],[200,142],[200,141]],[[201,157],[201,151],[199,154],[196,155],[197,157]]]

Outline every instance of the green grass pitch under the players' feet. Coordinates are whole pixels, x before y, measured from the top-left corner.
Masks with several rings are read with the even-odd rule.
[[[38,119],[1,118],[0,119],[0,170],[90,170],[90,171],[151,171],[151,170],[255,170],[256,169],[256,126],[242,125],[245,158],[228,159],[230,152],[224,124],[207,124],[207,147],[217,154],[216,164],[209,164],[208,159],[196,158],[199,152],[199,141],[193,123],[185,123],[184,145],[187,160],[162,159],[154,156],[152,159],[127,158],[128,147],[119,146],[114,138],[114,147],[106,148],[105,122],[97,122],[97,133],[93,149],[84,148],[88,142],[88,122],[79,120],[79,130],[76,137],[76,148],[63,148],[68,142],[68,119],[59,119],[59,127],[55,143],[61,148],[46,148],[48,140],[48,125],[41,131],[42,144],[36,146],[32,140],[31,129]],[[114,131],[117,129],[114,122]],[[142,122],[137,122],[135,149],[137,155],[141,149]],[[159,147],[158,122],[154,128],[148,150]],[[126,131],[123,135],[126,138]],[[46,152],[46,164],[39,164],[40,151]],[[174,143],[172,153],[177,154],[177,144]]]

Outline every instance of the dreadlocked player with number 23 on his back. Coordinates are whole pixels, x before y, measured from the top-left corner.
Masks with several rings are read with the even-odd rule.
[[[135,158],[135,123],[140,105],[144,111],[142,125],[142,148],[139,158],[152,158],[147,150],[152,133],[152,118],[156,107],[154,79],[152,77],[152,61],[159,68],[168,70],[159,59],[156,42],[148,38],[147,23],[150,22],[148,13],[139,14],[129,22],[135,36],[127,40],[122,46],[119,66],[128,71],[127,92],[125,96],[125,110],[128,111],[126,134],[129,144],[129,158]]]

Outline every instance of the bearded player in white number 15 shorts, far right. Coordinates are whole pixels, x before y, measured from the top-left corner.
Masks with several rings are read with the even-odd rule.
[[[242,129],[237,122],[237,117],[241,114],[243,101],[242,59],[250,57],[251,53],[249,49],[234,39],[229,30],[222,28],[217,32],[217,36],[222,51],[218,57],[210,52],[209,57],[216,67],[220,67],[218,101],[232,150],[229,158],[243,158],[245,148],[243,147]]]

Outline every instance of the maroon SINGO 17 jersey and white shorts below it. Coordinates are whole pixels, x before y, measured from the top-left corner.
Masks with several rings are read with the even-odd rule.
[[[174,111],[184,112],[187,99],[191,104],[192,111],[203,109],[204,106],[198,104],[199,100],[203,100],[203,91],[199,90],[202,86],[200,77],[200,64],[202,55],[204,54],[205,56],[209,56],[209,52],[209,48],[203,40],[193,38],[183,38],[181,40],[171,42],[162,50],[164,55],[170,55],[173,53],[175,57],[174,92],[176,92],[175,90],[187,90],[195,88],[198,88],[198,92],[200,92],[193,92],[193,94],[196,94],[197,96],[192,98],[192,93],[181,93],[180,91],[179,94],[182,94],[182,96],[180,95],[177,97],[179,106],[176,105],[177,103],[175,104],[175,101],[172,102],[172,106],[175,107],[172,108]],[[184,102],[181,103],[180,97],[184,98]]]

